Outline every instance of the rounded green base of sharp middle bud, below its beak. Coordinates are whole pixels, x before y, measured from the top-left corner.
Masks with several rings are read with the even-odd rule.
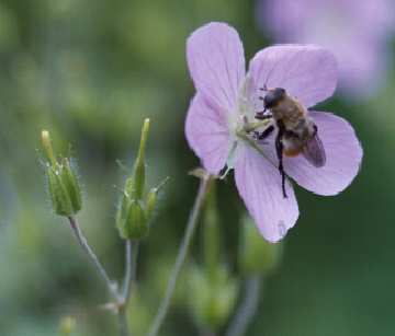
[[[123,202],[125,206],[126,202]],[[121,236],[126,240],[142,240],[148,234],[149,227],[145,211],[138,200],[132,199],[126,208],[120,210],[117,228]]]

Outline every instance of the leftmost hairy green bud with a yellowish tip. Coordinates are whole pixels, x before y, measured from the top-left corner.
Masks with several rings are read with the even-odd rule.
[[[42,132],[44,151],[50,161],[45,166],[48,193],[55,212],[59,216],[76,215],[82,207],[82,197],[75,169],[67,158],[57,162],[48,131]]]

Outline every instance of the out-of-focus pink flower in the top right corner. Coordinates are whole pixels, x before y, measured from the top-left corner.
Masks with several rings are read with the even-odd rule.
[[[259,0],[256,15],[275,43],[318,44],[340,68],[340,89],[374,93],[385,79],[394,0]]]

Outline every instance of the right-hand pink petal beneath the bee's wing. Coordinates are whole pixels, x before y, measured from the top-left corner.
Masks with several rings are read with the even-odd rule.
[[[309,112],[318,127],[326,152],[326,164],[315,167],[305,158],[285,158],[286,174],[297,184],[318,195],[336,195],[356,177],[362,148],[351,125],[331,113]]]

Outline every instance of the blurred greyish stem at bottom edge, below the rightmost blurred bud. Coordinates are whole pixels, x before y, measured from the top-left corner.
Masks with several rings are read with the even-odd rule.
[[[242,336],[257,312],[259,294],[261,289],[261,277],[255,275],[246,280],[245,298],[238,308],[235,317],[229,324],[226,336]]]

